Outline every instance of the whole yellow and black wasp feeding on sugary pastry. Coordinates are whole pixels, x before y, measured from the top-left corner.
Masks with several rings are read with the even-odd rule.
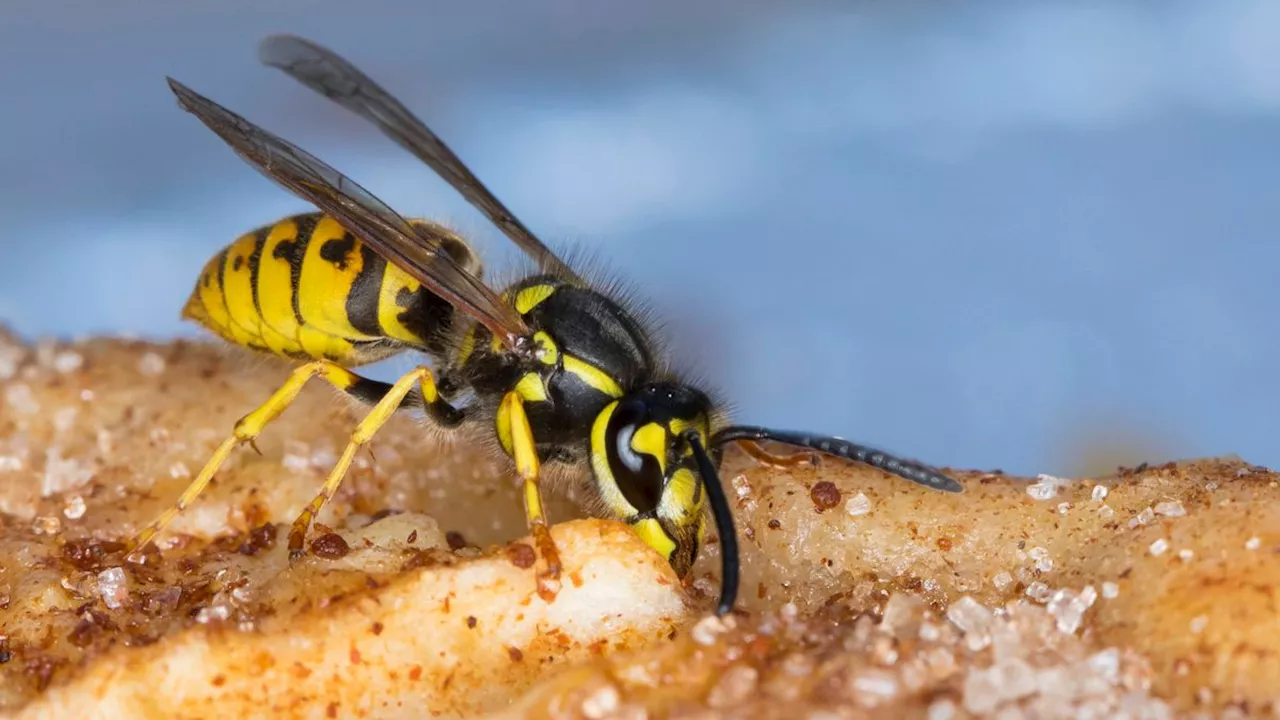
[[[536,588],[547,601],[559,588],[561,561],[543,507],[544,480],[580,483],[596,514],[626,523],[681,578],[705,541],[709,509],[722,556],[721,615],[732,611],[739,584],[733,515],[718,477],[727,445],[742,442],[758,459],[787,461],[755,445],[772,441],[933,489],[963,489],[934,468],[838,437],[728,424],[722,404],[681,378],[616,290],[584,278],[552,252],[422,120],[364,72],[296,36],[270,36],[259,51],[264,64],[365,118],[417,156],[536,268],[495,291],[481,279],[481,263],[463,238],[430,220],[404,219],[323,160],[168,78],[183,110],[319,211],[250,232],[205,265],[183,316],[234,345],[300,365],[237,421],[178,502],[134,538],[134,547],[163,532],[228,456],[252,443],[312,378],[370,410],[293,521],[288,547],[294,560],[305,555],[311,521],[356,452],[401,410],[421,410],[435,427],[477,439],[515,470],[538,556]],[[406,351],[429,364],[394,383],[353,370]]]

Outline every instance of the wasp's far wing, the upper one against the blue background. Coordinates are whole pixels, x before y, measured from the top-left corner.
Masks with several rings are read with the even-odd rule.
[[[340,55],[302,37],[273,35],[259,46],[259,59],[378,126],[401,147],[448,181],[467,202],[484,213],[543,269],[566,278],[577,278],[563,260],[494,197],[431,128]]]

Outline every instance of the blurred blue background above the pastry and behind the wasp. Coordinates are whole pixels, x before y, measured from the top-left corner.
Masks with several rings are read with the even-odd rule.
[[[306,209],[165,74],[513,258],[260,67],[282,31],[640,286],[746,421],[1024,474],[1108,445],[1280,465],[1280,4],[10,3],[0,319],[195,334],[202,263]]]

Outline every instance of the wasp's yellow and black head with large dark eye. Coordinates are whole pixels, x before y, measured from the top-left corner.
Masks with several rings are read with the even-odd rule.
[[[707,442],[710,401],[652,383],[611,404],[591,433],[591,466],[609,509],[685,575],[703,530],[703,479],[686,434]]]

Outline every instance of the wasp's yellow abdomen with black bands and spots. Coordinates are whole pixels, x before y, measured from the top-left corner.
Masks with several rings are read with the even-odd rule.
[[[444,234],[445,250],[479,274],[466,242]],[[454,322],[448,302],[320,213],[230,243],[205,265],[183,316],[236,345],[346,366],[407,347],[440,355]]]

